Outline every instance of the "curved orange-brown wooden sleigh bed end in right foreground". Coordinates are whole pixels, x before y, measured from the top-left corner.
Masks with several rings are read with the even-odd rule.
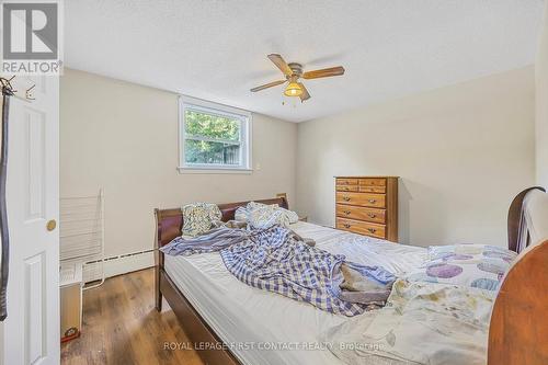
[[[494,301],[488,364],[548,364],[548,194],[543,187],[527,189],[512,202],[509,247],[520,254]]]

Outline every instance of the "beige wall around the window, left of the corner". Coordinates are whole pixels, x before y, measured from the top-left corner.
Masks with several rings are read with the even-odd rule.
[[[66,69],[60,101],[60,195],[105,189],[106,255],[152,248],[155,207],[295,197],[296,124],[253,115],[252,174],[180,174],[174,93]]]

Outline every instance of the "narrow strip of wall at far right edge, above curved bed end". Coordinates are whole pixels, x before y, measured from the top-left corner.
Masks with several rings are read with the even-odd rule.
[[[548,187],[548,3],[535,65],[537,183]]]

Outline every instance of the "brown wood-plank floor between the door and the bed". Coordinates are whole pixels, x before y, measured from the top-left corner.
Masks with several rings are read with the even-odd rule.
[[[156,311],[153,276],[142,270],[83,292],[82,334],[61,344],[61,364],[202,365],[169,306]],[[173,343],[180,350],[164,349]]]

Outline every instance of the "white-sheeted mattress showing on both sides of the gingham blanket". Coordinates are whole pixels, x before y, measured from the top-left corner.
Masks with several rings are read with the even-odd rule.
[[[290,227],[349,261],[401,274],[422,264],[424,248],[391,243],[328,227]],[[225,267],[218,252],[165,255],[164,269],[202,318],[242,364],[341,364],[321,343],[330,327],[349,320],[310,304],[248,286]]]

